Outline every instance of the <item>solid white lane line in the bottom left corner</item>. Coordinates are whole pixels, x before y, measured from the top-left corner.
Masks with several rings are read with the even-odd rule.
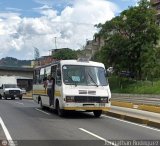
[[[12,137],[11,137],[11,135],[9,134],[9,131],[8,131],[7,127],[5,126],[5,124],[4,124],[4,122],[3,122],[3,120],[2,120],[1,117],[0,117],[0,124],[1,124],[1,126],[2,126],[2,128],[3,128],[3,131],[4,131],[5,135],[6,135],[6,138],[7,138],[8,142],[9,142],[10,144],[12,144],[12,146],[15,146],[15,144],[14,144],[14,142],[13,142],[13,140],[12,140]]]

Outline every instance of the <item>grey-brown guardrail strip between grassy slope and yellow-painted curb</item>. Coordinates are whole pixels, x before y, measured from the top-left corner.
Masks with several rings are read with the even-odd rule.
[[[160,106],[160,95],[112,93],[112,101]]]

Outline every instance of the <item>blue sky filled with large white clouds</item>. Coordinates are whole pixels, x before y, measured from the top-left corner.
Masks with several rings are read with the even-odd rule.
[[[137,0],[1,0],[0,59],[33,59],[68,47],[79,49],[97,31],[95,24],[119,15]]]

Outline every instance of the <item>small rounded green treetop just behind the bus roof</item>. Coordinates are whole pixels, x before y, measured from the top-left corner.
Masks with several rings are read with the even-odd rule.
[[[69,48],[63,48],[63,49],[58,50],[53,55],[53,58],[58,59],[58,60],[77,59],[77,53],[76,51],[71,50]]]

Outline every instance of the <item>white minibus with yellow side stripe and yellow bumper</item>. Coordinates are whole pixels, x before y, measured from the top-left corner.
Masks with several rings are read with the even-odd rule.
[[[48,75],[55,79],[53,105],[49,104],[44,86]],[[93,112],[95,117],[100,117],[102,110],[110,109],[111,104],[111,92],[105,75],[104,64],[80,59],[41,66],[34,71],[33,99],[41,108],[57,110],[59,116],[74,110]]]

